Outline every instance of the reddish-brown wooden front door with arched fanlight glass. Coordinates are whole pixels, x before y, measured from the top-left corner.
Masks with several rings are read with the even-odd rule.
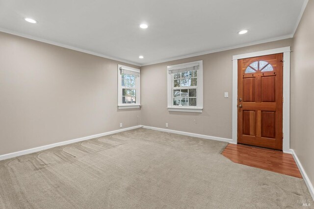
[[[237,141],[282,150],[283,54],[238,60]]]

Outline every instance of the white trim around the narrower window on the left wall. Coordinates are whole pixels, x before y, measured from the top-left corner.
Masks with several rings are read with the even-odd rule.
[[[135,89],[136,89],[136,103],[135,104],[124,104],[122,103],[122,75],[120,70],[129,70],[133,72],[138,72],[139,76],[135,80]],[[118,109],[133,109],[141,107],[141,70],[136,68],[131,68],[124,65],[118,65]]]

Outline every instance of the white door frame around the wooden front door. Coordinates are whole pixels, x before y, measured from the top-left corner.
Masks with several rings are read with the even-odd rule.
[[[291,46],[234,55],[232,58],[232,143],[237,143],[237,60],[270,54],[284,54],[283,68],[283,152],[290,150],[290,54]]]

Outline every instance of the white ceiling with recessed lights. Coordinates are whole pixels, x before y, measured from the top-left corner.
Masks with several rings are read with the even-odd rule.
[[[290,38],[306,2],[0,0],[0,31],[146,65]],[[141,29],[140,23],[149,27]],[[238,35],[241,29],[249,32]]]

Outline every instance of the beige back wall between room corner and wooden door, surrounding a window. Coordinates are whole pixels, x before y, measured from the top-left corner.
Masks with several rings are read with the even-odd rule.
[[[292,39],[141,67],[141,125],[232,139],[232,56],[291,46]],[[203,60],[203,113],[169,112],[167,66]],[[229,98],[224,98],[229,92]]]

